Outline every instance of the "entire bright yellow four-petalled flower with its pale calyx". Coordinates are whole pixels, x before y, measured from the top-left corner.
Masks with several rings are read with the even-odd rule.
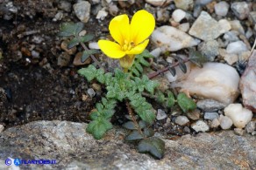
[[[131,24],[125,14],[114,17],[110,21],[109,30],[117,43],[99,40],[98,45],[109,58],[120,59],[120,65],[127,70],[132,66],[135,54],[145,50],[149,42],[147,38],[152,34],[154,26],[154,17],[146,10],[137,11]]]

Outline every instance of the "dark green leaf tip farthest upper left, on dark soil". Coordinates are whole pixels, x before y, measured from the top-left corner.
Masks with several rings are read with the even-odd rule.
[[[58,36],[69,37],[77,36],[82,31],[83,23],[64,23],[60,25],[60,33]]]

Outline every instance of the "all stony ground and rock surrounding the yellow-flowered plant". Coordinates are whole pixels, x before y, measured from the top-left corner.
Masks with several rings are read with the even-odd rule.
[[[188,92],[197,105],[196,111],[186,114],[153,105],[155,132],[167,143],[167,153],[160,161],[124,144],[124,131],[117,130],[122,115],[113,119],[117,129],[102,140],[85,133],[82,122],[89,122],[89,112],[104,89],[77,74],[92,63],[75,59],[82,47],[68,50],[65,40],[57,37],[61,23],[82,21],[84,31],[96,36],[89,48],[97,49],[98,39],[110,37],[112,17],[121,13],[132,17],[140,9],[156,18],[147,48],[155,65],[174,62],[170,53],[187,58],[188,47],[210,61],[203,69],[187,64],[186,74],[177,69],[175,77],[166,72],[159,78],[167,88]],[[67,159],[58,166],[70,169],[253,169],[255,37],[256,3],[250,0],[0,0],[1,162],[7,157],[44,157]],[[103,54],[96,58],[105,67],[115,64]],[[124,105],[117,109],[124,111]],[[35,120],[60,121],[32,122]],[[182,137],[170,140],[177,136]]]

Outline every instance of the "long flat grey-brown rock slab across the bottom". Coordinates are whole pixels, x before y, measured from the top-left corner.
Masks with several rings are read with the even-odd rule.
[[[185,135],[166,139],[162,160],[137,153],[124,143],[124,131],[111,130],[103,139],[93,139],[87,124],[67,121],[37,121],[0,133],[0,162],[8,157],[56,160],[56,165],[21,165],[21,169],[250,169],[256,167],[255,137],[232,131]],[[0,169],[6,169],[4,163]]]

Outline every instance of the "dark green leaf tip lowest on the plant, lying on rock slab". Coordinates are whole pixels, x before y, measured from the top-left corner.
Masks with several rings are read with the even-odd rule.
[[[142,139],[138,146],[139,153],[150,153],[153,157],[161,159],[165,153],[165,142],[159,138]]]

